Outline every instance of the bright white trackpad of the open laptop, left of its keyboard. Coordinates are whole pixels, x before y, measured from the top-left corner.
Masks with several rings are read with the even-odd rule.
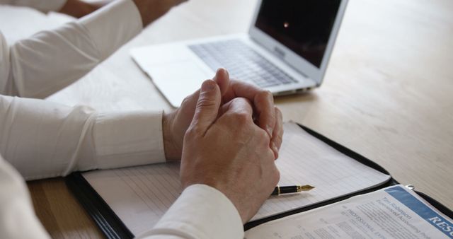
[[[173,107],[179,107],[186,96],[201,87],[203,81],[214,77],[212,72],[189,59],[152,64],[148,69],[154,84]]]

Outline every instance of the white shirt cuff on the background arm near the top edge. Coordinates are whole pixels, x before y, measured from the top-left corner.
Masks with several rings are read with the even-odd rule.
[[[131,0],[114,1],[79,20],[91,35],[101,60],[142,30],[142,18]]]

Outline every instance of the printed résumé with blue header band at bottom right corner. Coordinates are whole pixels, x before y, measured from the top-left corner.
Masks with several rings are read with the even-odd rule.
[[[453,238],[453,222],[397,185],[246,231],[246,239],[262,238]]]

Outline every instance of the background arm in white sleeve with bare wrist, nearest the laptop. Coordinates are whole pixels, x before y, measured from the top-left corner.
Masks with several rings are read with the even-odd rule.
[[[78,21],[15,42],[8,48],[8,64],[1,66],[6,81],[0,81],[0,94],[45,98],[59,91],[180,2],[113,1]]]

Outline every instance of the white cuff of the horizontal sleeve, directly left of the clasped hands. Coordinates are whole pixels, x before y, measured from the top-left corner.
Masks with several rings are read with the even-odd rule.
[[[117,112],[96,115],[81,151],[78,170],[121,168],[166,161],[162,112]],[[91,146],[90,146],[91,145]],[[94,151],[94,152],[93,152]],[[94,160],[86,155],[94,155]]]

